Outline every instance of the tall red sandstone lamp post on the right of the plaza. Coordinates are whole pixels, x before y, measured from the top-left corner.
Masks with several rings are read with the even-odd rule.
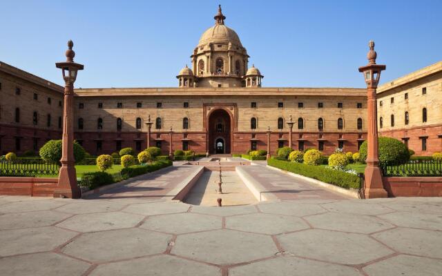
[[[359,68],[363,72],[367,83],[367,109],[368,109],[368,132],[367,132],[367,167],[365,167],[365,198],[387,197],[387,191],[383,186],[381,168],[379,168],[378,153],[378,116],[376,110],[376,88],[378,88],[381,71],[385,65],[376,64],[377,54],[374,51],[374,41],[369,41],[370,48],[367,66]]]

